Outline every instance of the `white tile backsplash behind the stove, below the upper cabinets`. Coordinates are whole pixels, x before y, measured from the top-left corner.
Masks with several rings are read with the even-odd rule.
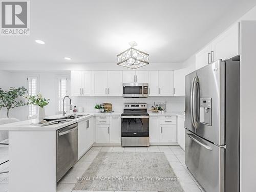
[[[93,112],[94,105],[100,104],[103,102],[112,103],[112,108],[116,112],[123,111],[123,103],[147,103],[148,109],[151,109],[151,106],[156,103],[165,103],[166,102],[166,111],[167,112],[177,112],[185,111],[185,97],[147,97],[147,98],[123,98],[123,97],[73,97],[72,105],[82,106],[84,112]],[[78,109],[78,108],[77,108]]]

